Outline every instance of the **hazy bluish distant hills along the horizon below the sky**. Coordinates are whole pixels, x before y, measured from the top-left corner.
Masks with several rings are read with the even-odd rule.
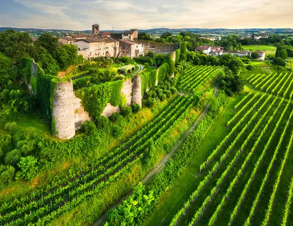
[[[0,32],[11,29],[12,27],[0,27]],[[66,34],[66,33],[91,33],[91,30],[84,30],[84,31],[74,31],[74,30],[63,30],[63,29],[38,29],[38,28],[12,28],[16,31],[26,31],[30,34],[40,35],[44,32],[50,32],[53,34]],[[113,33],[122,33],[123,30],[105,30]],[[139,32],[146,32],[149,34],[163,34],[165,32],[171,32],[172,34],[178,34],[182,31],[190,31],[193,33],[200,33],[200,34],[245,34],[245,33],[258,33],[258,32],[266,32],[266,33],[276,33],[276,34],[293,34],[292,28],[248,28],[248,29],[225,29],[225,28],[216,28],[216,29],[209,29],[209,28],[180,28],[180,29],[170,29],[170,28],[154,28],[154,29],[147,29],[147,30],[139,30]],[[103,32],[103,31],[101,31]]]

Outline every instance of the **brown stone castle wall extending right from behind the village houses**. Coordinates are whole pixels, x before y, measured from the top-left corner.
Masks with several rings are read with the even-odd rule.
[[[155,41],[138,41],[141,44],[144,44],[144,51],[145,54],[148,53],[148,51],[152,51],[153,53],[159,53],[159,54],[168,54],[174,52],[176,49],[179,48],[178,44],[170,44],[170,43],[160,43]]]

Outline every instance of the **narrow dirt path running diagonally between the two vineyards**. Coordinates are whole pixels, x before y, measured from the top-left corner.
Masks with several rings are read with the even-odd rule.
[[[213,96],[216,97],[218,95],[218,92],[219,92],[219,86],[218,84],[216,84],[214,92],[213,92]],[[167,155],[165,155],[161,159],[161,161],[158,164],[156,164],[155,167],[153,167],[151,171],[148,172],[148,174],[143,180],[141,180],[141,183],[143,185],[146,185],[150,181],[150,179],[152,179],[156,174],[160,173],[163,170],[163,168],[168,163],[168,161],[172,158],[175,152],[182,146],[182,144],[184,144],[188,135],[191,134],[196,129],[198,124],[205,118],[208,112],[209,112],[209,104],[207,104],[205,109],[200,113],[200,115],[198,116],[194,124],[188,129],[188,131],[186,131],[183,134],[183,136],[180,138],[180,140],[172,147],[171,151]],[[111,205],[109,209],[116,208],[118,205],[122,204],[122,202],[126,200],[126,198],[131,194],[132,194],[132,190],[129,191],[127,195],[121,198],[116,204]],[[102,226],[107,220],[107,214],[108,214],[108,211],[105,212],[103,215],[101,215],[101,217],[92,226]]]

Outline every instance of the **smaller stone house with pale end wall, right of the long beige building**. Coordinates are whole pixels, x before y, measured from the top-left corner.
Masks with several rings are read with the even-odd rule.
[[[139,57],[144,56],[144,45],[137,41],[119,40],[120,56]]]

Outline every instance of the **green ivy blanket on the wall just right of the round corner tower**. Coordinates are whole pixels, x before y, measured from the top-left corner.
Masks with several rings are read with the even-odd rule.
[[[122,86],[123,80],[105,82],[78,90],[76,96],[82,100],[89,116],[96,117],[102,114],[107,103],[111,103],[113,106],[123,103],[123,97],[120,94]]]

